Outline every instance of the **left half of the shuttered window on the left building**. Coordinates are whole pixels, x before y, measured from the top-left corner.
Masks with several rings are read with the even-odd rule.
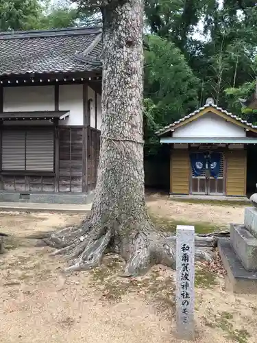
[[[25,131],[2,131],[2,170],[25,170]]]

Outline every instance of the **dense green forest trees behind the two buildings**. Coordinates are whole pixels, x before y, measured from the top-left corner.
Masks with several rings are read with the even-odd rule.
[[[0,29],[101,25],[83,0],[0,0]],[[154,131],[205,104],[234,114],[252,95],[257,71],[256,0],[145,0],[145,154],[158,154]]]

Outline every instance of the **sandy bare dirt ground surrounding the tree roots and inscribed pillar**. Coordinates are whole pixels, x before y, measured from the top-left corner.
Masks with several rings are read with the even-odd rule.
[[[162,215],[171,215],[174,204],[158,202]],[[188,204],[180,204],[173,215],[185,220]],[[160,215],[158,206],[149,203],[152,214]],[[206,215],[202,206],[191,215]],[[211,211],[221,216],[216,205]],[[231,206],[217,211],[227,213],[228,222],[235,221],[237,212]],[[183,342],[174,335],[172,270],[157,265],[143,277],[124,279],[119,276],[123,261],[109,255],[95,270],[65,275],[64,260],[51,257],[51,248],[39,246],[36,239],[26,238],[81,220],[82,215],[0,213],[0,231],[11,235],[8,252],[0,255],[0,342]],[[195,342],[256,342],[256,296],[226,292],[222,274],[204,263],[197,265],[195,284]]]

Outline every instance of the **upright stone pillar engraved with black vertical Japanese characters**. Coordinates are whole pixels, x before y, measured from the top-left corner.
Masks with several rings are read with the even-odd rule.
[[[182,340],[195,338],[195,227],[177,226],[176,324]]]

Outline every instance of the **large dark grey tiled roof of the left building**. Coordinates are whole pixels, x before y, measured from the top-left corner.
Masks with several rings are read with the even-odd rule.
[[[98,27],[0,33],[0,77],[101,71],[101,50]]]

